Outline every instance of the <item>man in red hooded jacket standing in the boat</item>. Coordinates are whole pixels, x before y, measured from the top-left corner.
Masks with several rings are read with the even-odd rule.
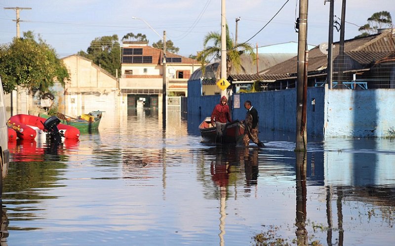
[[[217,128],[217,136],[222,137],[227,122],[232,122],[228,99],[222,96],[219,104],[215,105],[211,113],[211,124]]]

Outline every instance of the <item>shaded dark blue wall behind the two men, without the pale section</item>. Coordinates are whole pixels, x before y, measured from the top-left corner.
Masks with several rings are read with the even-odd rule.
[[[307,131],[309,135],[323,135],[324,125],[324,88],[309,88],[307,98]],[[240,108],[232,105],[232,120],[244,120],[246,110],[244,101],[250,100],[258,110],[259,128],[285,130],[295,132],[296,126],[296,91],[268,91],[255,93],[241,93]],[[311,101],[316,99],[315,111]],[[188,119],[203,121],[211,115],[215,104],[220,101],[220,95],[201,96],[201,82],[188,82]],[[233,104],[233,103],[232,103]],[[190,117],[190,116],[194,117]],[[196,117],[198,116],[198,117]]]

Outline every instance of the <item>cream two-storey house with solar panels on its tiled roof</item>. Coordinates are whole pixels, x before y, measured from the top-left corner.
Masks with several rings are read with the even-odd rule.
[[[127,94],[128,107],[143,101],[146,108],[159,108],[163,89],[163,51],[145,42],[125,41],[121,52],[119,89]],[[194,59],[166,52],[166,92],[187,96],[188,79],[199,68]]]

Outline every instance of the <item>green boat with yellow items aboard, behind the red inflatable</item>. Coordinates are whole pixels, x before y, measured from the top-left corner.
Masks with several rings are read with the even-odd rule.
[[[59,118],[60,123],[74,126],[79,129],[80,132],[92,132],[97,131],[99,128],[100,120],[102,119],[103,111],[91,111],[89,114],[82,114],[77,118],[73,118],[62,113],[56,113],[55,116]],[[49,118],[51,116],[40,113],[39,117]]]

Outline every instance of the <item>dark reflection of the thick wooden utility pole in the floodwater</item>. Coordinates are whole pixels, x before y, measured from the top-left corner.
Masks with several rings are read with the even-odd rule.
[[[306,169],[307,169],[307,153],[296,153],[296,239],[298,245],[308,245],[306,230]]]

